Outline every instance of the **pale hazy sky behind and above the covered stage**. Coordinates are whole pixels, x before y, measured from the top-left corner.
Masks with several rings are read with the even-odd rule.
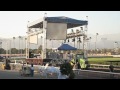
[[[85,20],[88,16],[89,34],[120,33],[120,11],[0,11],[0,37],[26,35],[27,22],[44,16],[66,16]]]

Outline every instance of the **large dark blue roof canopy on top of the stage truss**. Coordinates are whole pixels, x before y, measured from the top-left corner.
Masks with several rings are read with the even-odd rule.
[[[65,16],[61,16],[61,17],[46,17],[45,20],[48,23],[66,23],[67,24],[67,29],[69,28],[74,28],[74,27],[78,27],[78,26],[83,26],[83,25],[87,25],[88,21],[85,20],[77,20],[77,19],[73,19],[73,18],[69,18],[69,17],[65,17]],[[32,23],[28,24],[29,28],[39,28],[40,25],[43,25],[43,18],[42,19],[38,19]]]

